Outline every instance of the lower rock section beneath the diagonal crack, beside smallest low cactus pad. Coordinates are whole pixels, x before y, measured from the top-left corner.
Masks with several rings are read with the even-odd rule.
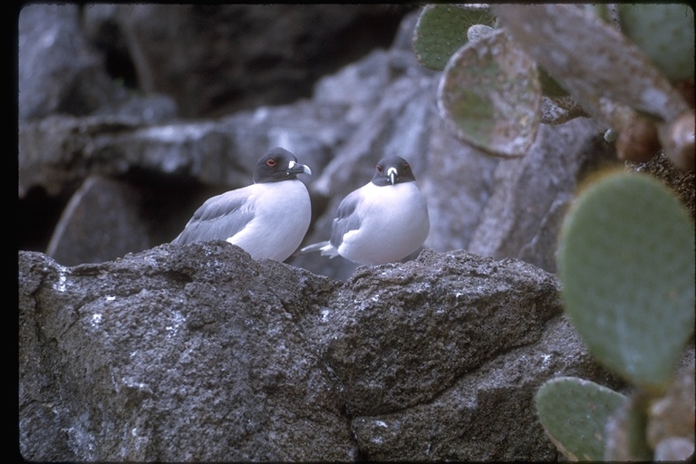
[[[618,387],[597,368],[565,317],[555,316],[535,343],[495,353],[431,401],[356,416],[355,438],[372,460],[556,461],[536,419],[534,396],[543,380],[557,375],[589,375]]]

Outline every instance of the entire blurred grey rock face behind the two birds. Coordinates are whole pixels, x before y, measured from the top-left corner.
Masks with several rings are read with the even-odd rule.
[[[555,271],[577,181],[615,163],[605,128],[543,126],[527,156],[456,140],[440,73],[411,49],[414,5],[26,5],[19,14],[19,249],[64,266],[166,243],[206,199],[251,181],[275,146],[314,172],[313,225],[377,160],[411,162],[436,251],[517,257]],[[341,257],[289,264],[345,279]]]

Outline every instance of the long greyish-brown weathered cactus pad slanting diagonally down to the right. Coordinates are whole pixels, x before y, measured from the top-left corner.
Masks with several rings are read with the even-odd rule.
[[[664,121],[688,110],[679,92],[640,48],[584,8],[501,4],[493,7],[493,13],[517,46],[586,103],[586,110],[596,118],[604,118],[602,99]]]

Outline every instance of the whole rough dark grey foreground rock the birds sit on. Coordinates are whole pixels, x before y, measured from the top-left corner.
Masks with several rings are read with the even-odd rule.
[[[19,253],[31,460],[555,459],[533,395],[615,385],[521,261],[423,251],[340,283],[226,242]]]

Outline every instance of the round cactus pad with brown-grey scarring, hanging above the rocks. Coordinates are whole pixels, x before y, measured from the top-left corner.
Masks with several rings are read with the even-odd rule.
[[[492,155],[523,156],[541,119],[536,64],[497,30],[452,56],[438,105],[460,140]]]

